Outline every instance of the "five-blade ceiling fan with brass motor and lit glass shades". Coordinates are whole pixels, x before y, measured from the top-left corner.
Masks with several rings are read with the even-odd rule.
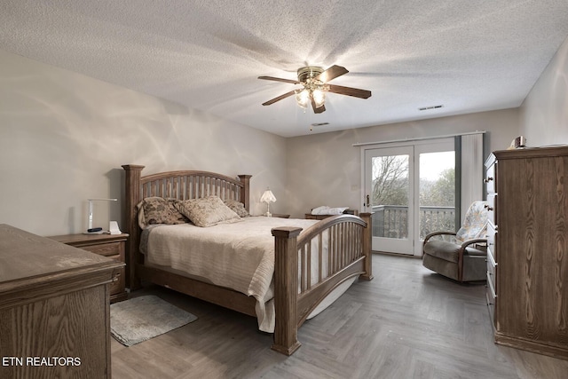
[[[327,70],[324,70],[323,67],[307,66],[298,68],[298,80],[282,79],[280,77],[273,76],[258,76],[258,79],[302,85],[302,88],[300,89],[286,92],[277,98],[266,101],[263,103],[263,106],[270,106],[281,99],[286,99],[289,96],[296,95],[296,102],[300,107],[308,107],[308,104],[311,103],[313,113],[320,114],[326,110],[324,105],[326,92],[338,93],[340,95],[347,95],[360,99],[370,98],[371,91],[327,84],[330,80],[335,79],[338,76],[345,75],[348,72],[349,71],[347,71],[345,67],[336,65],[327,68]]]

